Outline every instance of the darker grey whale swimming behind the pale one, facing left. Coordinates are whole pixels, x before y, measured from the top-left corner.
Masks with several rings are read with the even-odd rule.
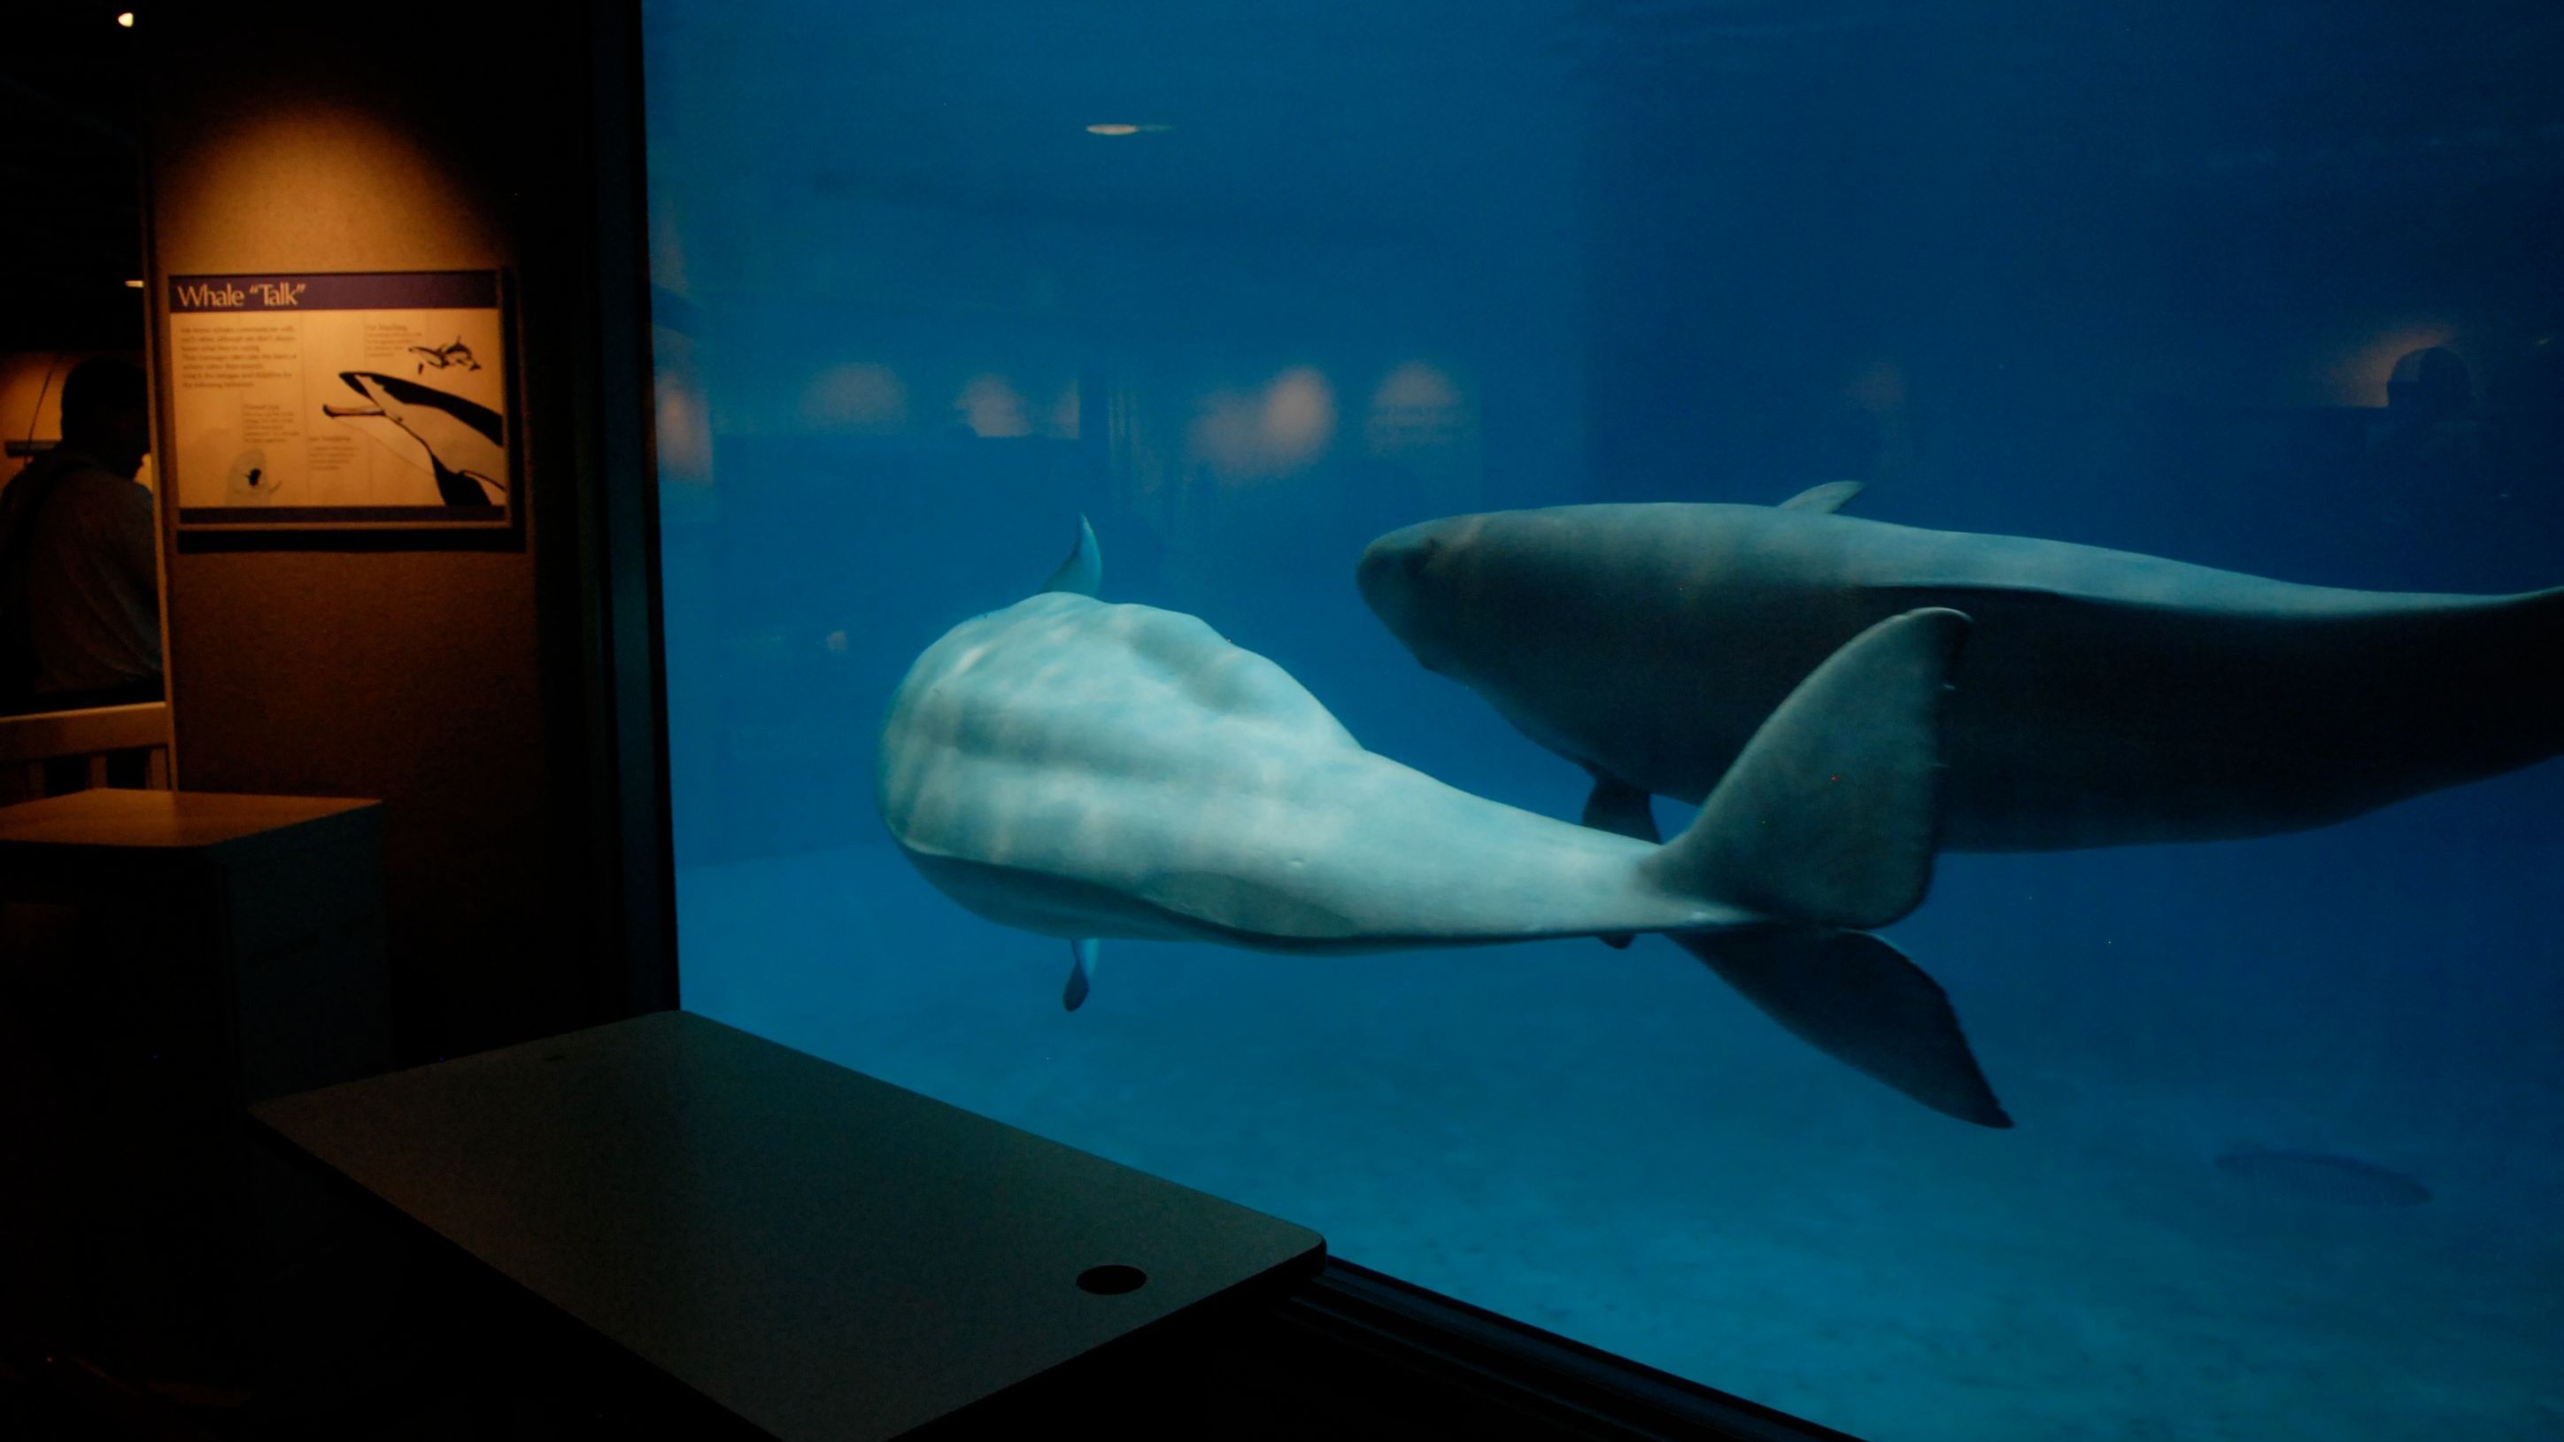
[[[1431,670],[1654,836],[1818,659],[1885,616],[1974,618],[1944,844],[2036,852],[2346,821],[2564,752],[2564,590],[2402,595],[1779,508],[1561,505],[1372,541],[1356,580]]]

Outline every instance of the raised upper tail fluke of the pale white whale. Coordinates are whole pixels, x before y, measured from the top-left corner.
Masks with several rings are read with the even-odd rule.
[[[1908,611],[1826,657],[1754,731],[1656,883],[1772,921],[1864,931],[1931,888],[1941,708],[1969,618]]]

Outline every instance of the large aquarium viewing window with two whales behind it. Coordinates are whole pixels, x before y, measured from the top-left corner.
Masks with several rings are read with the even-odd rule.
[[[2559,62],[649,0],[685,1006],[1879,1442],[2564,1429]]]

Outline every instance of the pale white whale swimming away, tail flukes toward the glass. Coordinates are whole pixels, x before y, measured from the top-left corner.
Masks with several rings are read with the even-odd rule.
[[[2010,1126],[1941,988],[1869,934],[1931,880],[1967,616],[1885,616],[1820,657],[1656,844],[1367,752],[1279,665],[1100,580],[1079,523],[1044,590],[915,659],[874,754],[882,824],[936,890],[1069,942],[1072,1011],[1105,939],[1323,957],[1667,931],[1828,1055]]]

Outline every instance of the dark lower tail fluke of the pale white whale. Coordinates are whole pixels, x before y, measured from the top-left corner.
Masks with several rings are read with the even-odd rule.
[[[1785,1031],[1913,1101],[1977,1126],[2010,1126],[1949,993],[1869,931],[1756,926],[1679,931],[1674,944],[1708,962]]]

